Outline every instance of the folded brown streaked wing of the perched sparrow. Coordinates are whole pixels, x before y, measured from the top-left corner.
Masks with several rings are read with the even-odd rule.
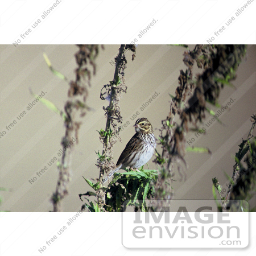
[[[125,149],[122,154],[119,156],[117,161],[117,166],[122,163],[131,162],[130,158],[133,158],[135,152],[140,151],[139,148],[142,146],[142,140],[139,138],[138,133],[135,133],[130,141],[126,144]],[[126,164],[125,164],[126,165]],[[127,164],[129,166],[129,164]]]

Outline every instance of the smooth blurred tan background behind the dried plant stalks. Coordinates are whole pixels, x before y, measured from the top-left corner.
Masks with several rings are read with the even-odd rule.
[[[193,46],[189,46],[193,49]],[[40,94],[62,109],[67,100],[68,84],[54,76],[48,69],[43,52],[46,52],[52,65],[57,71],[75,79],[76,68],[74,54],[76,46],[72,45],[13,45],[0,46],[0,187],[8,191],[0,191],[2,204],[0,210],[11,212],[48,212],[52,210],[49,201],[55,191],[57,181],[56,164],[48,166],[48,162],[57,156],[60,141],[64,134],[63,122],[59,116],[37,102],[31,110],[27,106],[35,98],[31,96],[29,88],[35,94]],[[108,101],[100,100],[100,90],[104,84],[113,80],[114,57],[117,56],[118,45],[105,45],[104,50],[96,59],[96,76],[92,79],[89,89],[88,105],[92,112],[85,115],[84,123],[79,130],[79,144],[73,151],[72,181],[69,184],[69,195],[63,200],[65,212],[76,212],[83,204],[79,199],[80,193],[91,190],[82,176],[90,179],[98,177],[95,166],[97,156],[94,151],[102,150],[102,144],[96,130],[105,129],[106,119],[102,106]],[[114,161],[116,162],[126,143],[135,133],[131,116],[139,112],[139,117],[147,117],[152,123],[155,136],[161,120],[166,118],[170,108],[169,93],[175,94],[178,85],[177,78],[183,64],[184,48],[162,45],[139,45],[134,61],[131,52],[127,52],[127,68],[125,78],[127,93],[121,98],[121,113],[123,122],[131,124],[121,131],[122,143],[114,146]],[[207,133],[196,138],[193,133],[188,139],[195,138],[193,146],[207,146],[212,156],[207,154],[188,153],[185,157],[188,168],[175,173],[172,184],[175,189],[175,199],[212,199],[212,178],[218,177],[223,188],[227,188],[228,180],[224,171],[230,176],[233,172],[233,155],[238,151],[238,144],[249,133],[250,116],[256,112],[256,46],[248,46],[246,58],[243,59],[237,72],[237,79],[233,81],[235,88],[226,86],[220,94],[219,103],[225,105],[234,102],[220,120],[209,127],[205,126],[209,115],[202,123]],[[196,75],[196,72],[195,74]],[[158,93],[146,109],[140,110],[152,95]],[[213,108],[213,107],[212,107]],[[21,119],[18,115],[26,111]],[[213,110],[218,110],[213,108]],[[136,118],[137,119],[137,118]],[[14,120],[16,124],[10,126]],[[255,135],[254,131],[254,135]],[[186,146],[189,146],[188,143]],[[159,148],[159,146],[158,146]],[[156,168],[152,160],[150,168]],[[42,176],[36,175],[44,166],[48,170]],[[33,177],[37,179],[30,183]],[[256,197],[250,204],[255,206]]]

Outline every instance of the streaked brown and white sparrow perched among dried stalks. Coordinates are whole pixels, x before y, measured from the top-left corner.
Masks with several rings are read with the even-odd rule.
[[[154,154],[156,142],[153,127],[147,118],[139,118],[135,122],[136,133],[126,144],[125,149],[119,156],[117,168],[111,171],[103,180],[105,183],[115,172],[126,167],[139,168],[146,164]]]

